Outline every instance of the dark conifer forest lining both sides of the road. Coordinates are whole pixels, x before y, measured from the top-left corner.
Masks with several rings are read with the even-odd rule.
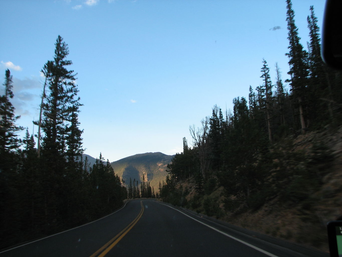
[[[196,180],[198,195],[209,194],[219,185],[234,194],[235,200],[226,203],[232,208],[240,203],[258,208],[275,192],[284,199],[303,199],[315,189],[323,175],[316,164],[331,156],[316,155],[320,159],[298,165],[303,156],[286,151],[291,148],[286,138],[341,125],[342,76],[321,60],[319,28],[313,7],[310,10],[310,42],[304,50],[287,0],[286,55],[291,79],[285,82],[290,90],[277,65],[277,76],[271,81],[263,60],[263,84],[255,90],[250,87],[248,99],[234,99],[232,112],[223,113],[214,106],[200,128],[190,127],[193,147],[183,138],[183,152],[168,165],[170,176],[160,185],[159,196],[165,201],[184,205],[184,192],[175,183],[190,176]],[[37,142],[28,130],[25,138],[17,136],[24,128],[16,125],[12,76],[9,70],[5,72],[5,94],[0,97],[0,248],[102,217],[122,205],[128,193],[131,198],[139,192],[134,181],[127,192],[101,154],[92,167],[87,159],[82,160],[81,103],[76,73],[68,70],[72,64],[66,59],[68,53],[67,44],[58,36],[54,59],[41,71],[45,84],[41,115],[34,121],[39,127]],[[319,142],[314,149],[325,152]],[[277,167],[270,161],[275,158],[279,159]],[[272,169],[277,172],[271,174]],[[143,186],[138,196],[153,193]],[[208,211],[216,208],[214,204],[207,203]]]

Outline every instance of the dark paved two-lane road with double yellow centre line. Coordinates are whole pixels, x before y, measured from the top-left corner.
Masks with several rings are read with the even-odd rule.
[[[0,256],[304,257],[313,253],[297,253],[146,199],[129,201],[100,220],[1,252]]]

